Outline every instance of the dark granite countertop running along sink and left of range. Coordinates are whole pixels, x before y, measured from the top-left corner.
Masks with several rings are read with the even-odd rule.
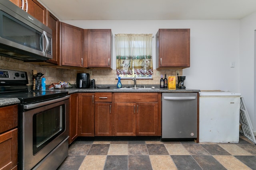
[[[156,85],[137,85],[138,89],[132,89],[133,85],[122,85],[123,88],[116,88],[116,85],[98,85],[96,88],[64,88],[64,89],[50,89],[47,91],[62,91],[68,92],[68,94],[73,93],[94,93],[94,92],[161,92],[161,93],[182,93],[190,92],[196,93],[200,90],[196,89],[168,89],[168,88],[159,88]],[[154,89],[152,88],[154,87]],[[0,106],[7,106],[11,104],[18,104],[20,100],[18,98],[0,98]]]

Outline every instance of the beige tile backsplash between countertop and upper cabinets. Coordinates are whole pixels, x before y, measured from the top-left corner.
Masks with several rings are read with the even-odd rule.
[[[28,74],[29,85],[32,85],[32,70],[37,70],[37,72],[42,72],[46,78],[46,84],[50,85],[59,81],[69,82],[74,84],[76,82],[76,73],[78,72],[89,72],[92,71],[92,76],[90,79],[95,79],[96,86],[100,84],[116,84],[116,70],[111,69],[87,69],[87,68],[78,68],[78,69],[62,69],[56,68],[56,66],[44,66],[35,63],[27,63],[17,59],[12,59],[10,57],[0,56],[0,69],[7,70],[20,70],[26,71]],[[153,79],[150,80],[137,80],[137,84],[160,84],[161,74],[166,74],[166,76],[177,76],[176,70],[179,70],[179,75],[182,76],[182,69],[158,69],[153,70],[154,74],[152,75]],[[159,75],[156,75],[156,71],[159,71]],[[133,84],[132,80],[122,80],[122,84]]]

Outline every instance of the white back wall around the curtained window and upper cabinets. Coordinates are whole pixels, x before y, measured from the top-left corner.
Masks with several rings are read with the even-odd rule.
[[[239,20],[143,20],[64,21],[84,29],[112,29],[118,33],[153,33],[152,55],[155,63],[155,35],[160,28],[190,28],[190,68],[183,69],[186,87],[200,90],[239,92]],[[115,47],[113,45],[113,60]],[[235,67],[230,68],[230,62]],[[154,65],[154,68],[155,65]],[[113,69],[116,69],[115,62]]]

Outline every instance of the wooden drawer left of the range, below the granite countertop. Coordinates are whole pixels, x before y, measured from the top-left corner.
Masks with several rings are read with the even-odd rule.
[[[0,108],[0,133],[18,126],[18,106]]]

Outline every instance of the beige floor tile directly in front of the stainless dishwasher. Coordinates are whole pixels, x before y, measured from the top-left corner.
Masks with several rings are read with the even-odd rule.
[[[170,155],[190,155],[182,144],[164,144]]]

